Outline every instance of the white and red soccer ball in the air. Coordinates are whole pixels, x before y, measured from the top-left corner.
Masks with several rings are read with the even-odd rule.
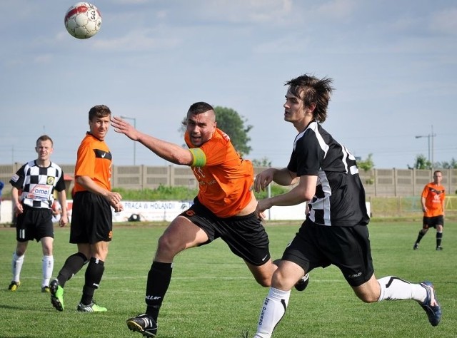
[[[78,2],[66,11],[65,28],[77,39],[89,39],[99,32],[100,26],[100,11],[89,2]]]

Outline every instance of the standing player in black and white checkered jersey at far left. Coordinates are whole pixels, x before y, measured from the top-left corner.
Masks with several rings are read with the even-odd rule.
[[[41,135],[36,140],[35,150],[38,158],[22,165],[9,181],[13,186],[11,197],[17,215],[17,244],[11,262],[13,279],[8,288],[10,291],[16,291],[21,285],[20,275],[27,245],[29,240],[36,240],[41,242],[43,248],[41,292],[49,292],[49,280],[54,267],[54,227],[51,210],[54,190],[58,192],[59,203],[62,206],[59,225],[64,227],[68,222],[64,172],[59,165],[50,160],[54,152],[51,138],[48,135]]]

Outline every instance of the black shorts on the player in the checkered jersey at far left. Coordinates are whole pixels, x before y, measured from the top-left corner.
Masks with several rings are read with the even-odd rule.
[[[16,219],[16,240],[27,242],[43,237],[54,238],[54,227],[52,225],[52,210],[45,208],[31,208],[23,205],[24,212]]]

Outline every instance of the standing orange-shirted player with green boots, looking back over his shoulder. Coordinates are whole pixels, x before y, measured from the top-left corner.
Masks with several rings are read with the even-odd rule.
[[[111,191],[111,152],[105,143],[111,111],[107,106],[94,106],[89,111],[89,132],[78,148],[75,167],[73,211],[70,242],[78,252],[69,256],[59,275],[51,282],[51,303],[64,310],[64,285],[89,262],[84,287],[76,308],[79,312],[105,312],[94,302],[94,292],[103,277],[108,245],[113,235],[111,207],[122,210],[121,195]]]

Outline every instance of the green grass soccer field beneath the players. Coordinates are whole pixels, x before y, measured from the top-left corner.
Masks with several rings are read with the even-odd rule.
[[[371,246],[376,276],[396,275],[411,282],[431,280],[443,308],[438,327],[411,300],[364,304],[335,267],[311,272],[305,292],[292,291],[288,311],[275,338],[295,337],[457,337],[457,222],[446,222],[442,252],[435,251],[432,229],[413,251],[420,228],[411,222],[372,222]],[[266,225],[271,253],[279,257],[298,223]],[[17,292],[11,281],[14,228],[0,228],[0,337],[141,337],[126,328],[127,318],[144,312],[144,289],[151,257],[164,225],[115,225],[114,240],[95,299],[109,312],[76,312],[84,271],[65,287],[64,312],[40,292],[41,245],[29,250]],[[56,228],[54,276],[75,246],[69,228]],[[186,250],[176,257],[169,293],[159,316],[159,338],[253,336],[260,305],[268,292],[254,282],[243,262],[224,242]]]

